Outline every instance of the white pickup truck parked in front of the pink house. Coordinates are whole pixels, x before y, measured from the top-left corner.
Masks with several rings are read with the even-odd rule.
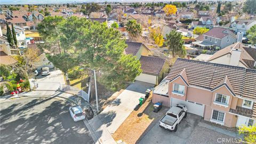
[[[183,118],[187,117],[187,107],[177,104],[177,106],[171,107],[161,119],[159,126],[163,129],[176,132],[178,124]]]

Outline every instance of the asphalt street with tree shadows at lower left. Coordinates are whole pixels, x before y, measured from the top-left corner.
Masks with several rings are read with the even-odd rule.
[[[83,121],[74,122],[71,103],[20,98],[0,103],[0,143],[94,143]]]

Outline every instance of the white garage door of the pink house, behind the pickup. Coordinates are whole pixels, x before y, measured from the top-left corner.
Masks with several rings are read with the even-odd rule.
[[[171,99],[171,106],[175,106],[177,104],[185,105],[188,108],[188,112],[192,114],[196,114],[199,116],[203,116],[204,114],[204,105],[194,101],[183,101],[179,99]]]

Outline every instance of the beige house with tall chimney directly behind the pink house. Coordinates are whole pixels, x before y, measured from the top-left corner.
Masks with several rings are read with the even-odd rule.
[[[253,69],[256,66],[256,49],[237,42],[215,52],[208,62]]]

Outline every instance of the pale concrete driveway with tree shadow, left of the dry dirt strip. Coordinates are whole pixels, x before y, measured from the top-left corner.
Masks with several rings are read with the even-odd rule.
[[[110,134],[115,133],[118,127],[139,104],[139,98],[154,84],[135,81],[130,84],[118,97],[110,103],[100,114],[101,121],[106,125]]]

